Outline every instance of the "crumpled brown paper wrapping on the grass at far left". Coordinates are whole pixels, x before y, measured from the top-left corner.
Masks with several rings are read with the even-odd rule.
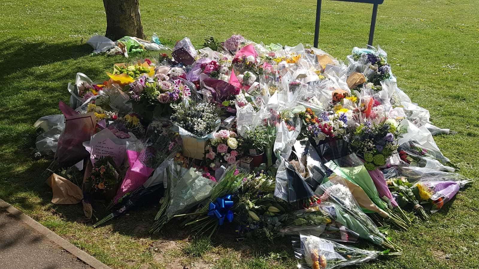
[[[52,188],[54,204],[75,204],[83,199],[80,187],[55,173],[46,179],[46,184]]]

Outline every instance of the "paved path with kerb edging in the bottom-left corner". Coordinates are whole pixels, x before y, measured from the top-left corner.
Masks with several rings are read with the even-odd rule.
[[[0,199],[0,269],[110,269]]]

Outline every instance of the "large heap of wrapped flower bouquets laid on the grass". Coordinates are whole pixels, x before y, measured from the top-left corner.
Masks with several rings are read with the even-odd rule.
[[[408,230],[470,182],[434,143],[452,132],[398,88],[380,48],[339,61],[302,44],[184,38],[106,71],[78,73],[63,114],[36,123],[56,184],[81,188],[87,217],[109,203],[94,226],[159,202],[151,233],[177,221],[206,236],[291,235],[299,267],[334,268],[399,255],[388,227]]]

